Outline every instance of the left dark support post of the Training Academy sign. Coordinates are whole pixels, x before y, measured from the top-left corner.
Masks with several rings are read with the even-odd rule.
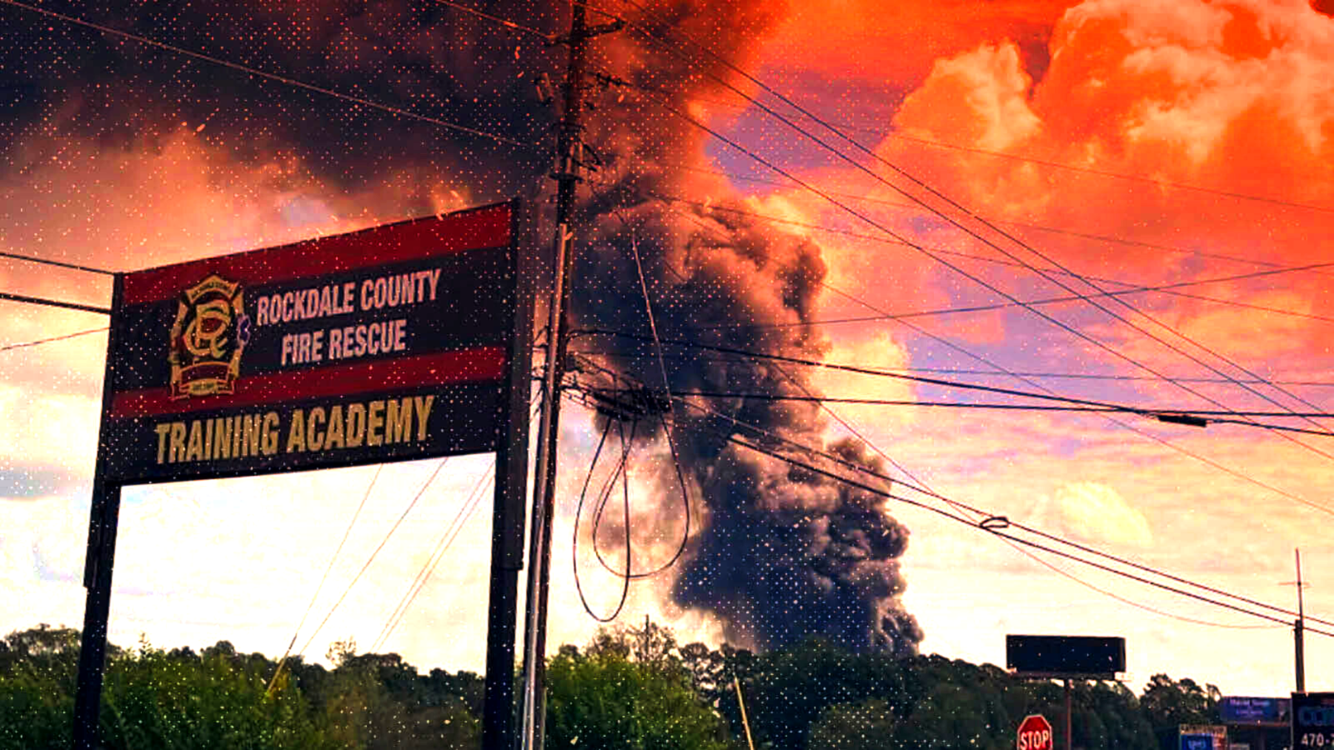
[[[97,436],[97,467],[92,480],[92,508],[88,518],[88,552],[84,559],[84,627],[79,642],[79,682],[75,689],[75,750],[97,747],[101,714],[101,677],[107,666],[107,621],[111,617],[111,569],[116,555],[116,522],[120,518],[120,483],[103,478],[107,422],[113,394],[116,312],[124,299],[124,279],[113,278],[111,331],[107,340],[107,367],[101,386],[101,427]]]

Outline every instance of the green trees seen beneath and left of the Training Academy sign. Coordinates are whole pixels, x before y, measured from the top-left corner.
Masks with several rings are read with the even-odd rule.
[[[107,649],[101,739],[107,749],[458,749],[480,746],[482,679],[418,675],[396,654],[356,655],[339,667],[239,654],[227,641],[195,654],[147,642]],[[79,633],[36,629],[0,639],[0,750],[69,747]]]

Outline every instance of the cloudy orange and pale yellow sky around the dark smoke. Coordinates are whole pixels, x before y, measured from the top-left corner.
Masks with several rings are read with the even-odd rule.
[[[1107,290],[1122,288],[1110,280],[1169,284],[1334,263],[1334,20],[1305,0],[827,0],[768,12],[778,17],[754,20],[767,31],[750,40],[746,64],[831,121],[855,125],[848,133],[871,153],[839,143],[862,168],[850,165],[754,107],[704,103],[710,121],[756,152],[778,155],[811,183],[860,196],[846,200],[880,227],[931,252],[966,255],[939,255],[956,266],[950,270],[904,246],[788,226],[784,231],[819,244],[828,286],[866,303],[826,291],[816,319],[987,304],[1003,302],[1000,294],[1070,294],[1062,284],[1091,291],[1069,276],[1045,279],[1015,267],[1021,260],[1107,279],[1098,282]],[[735,101],[724,92],[708,95],[715,101],[724,96]],[[59,123],[60,112],[52,117]],[[0,173],[0,246],[136,268],[398,219],[422,206],[451,210],[486,196],[466,181],[440,179],[428,165],[399,164],[374,179],[336,181],[324,175],[325,165],[300,155],[244,155],[211,135],[208,123],[192,120],[141,133],[128,145],[107,145],[59,125],[28,132],[12,145]],[[724,145],[702,143],[700,152],[704,168],[782,180]],[[971,215],[946,207],[894,167]],[[679,184],[706,181],[682,177]],[[799,188],[734,184],[748,196],[750,211],[882,234]],[[920,207],[902,206],[912,198],[991,244]],[[1087,303],[1041,307],[1093,340],[1019,308],[911,319],[918,328],[831,324],[824,327],[827,359],[987,370],[978,359],[984,358],[1026,372],[1218,379],[1218,370],[1245,379],[1327,382],[1334,366],[1330,274],[1334,267],[1179,290],[1197,296],[1119,298],[1133,310],[1102,303],[1123,320]],[[0,263],[0,290],[93,303],[107,298],[97,279],[17,263]],[[104,324],[83,314],[0,306],[7,320],[0,346]],[[0,351],[0,407],[9,415],[0,424],[0,598],[24,602],[21,611],[0,615],[0,630],[76,623],[81,617],[77,571],[104,343],[104,335],[89,335]],[[967,379],[1034,387],[1005,376]],[[815,382],[839,395],[958,398],[830,371]],[[1286,392],[1254,386],[1262,398],[1227,383],[1041,383],[1066,395],[1161,407],[1217,408],[1217,402],[1279,408],[1273,399],[1325,411],[1334,403],[1330,386],[1286,386]],[[1278,583],[1291,578],[1293,547],[1301,546],[1317,585],[1307,611],[1334,613],[1334,594],[1321,586],[1334,566],[1334,543],[1322,532],[1330,512],[1294,499],[1334,507],[1330,459],[1318,455],[1334,452],[1329,438],[1303,435],[1301,446],[1245,427],[1191,430],[1125,419],[1174,450],[1094,415],[834,408],[946,495],[1247,597],[1290,602],[1291,590]],[[563,435],[570,470],[562,482],[572,495],[596,435],[587,418],[574,410],[570,415]],[[828,430],[830,438],[842,434],[840,427]],[[638,487],[647,492],[654,456],[639,460],[632,475],[638,472]],[[371,581],[316,643],[355,635],[366,646],[374,639],[403,582],[426,559],[440,524],[452,518],[459,495],[486,462],[456,459],[450,466],[444,491],[415,511],[420,523],[394,540],[399,552],[368,571]],[[143,631],[168,646],[229,638],[243,650],[280,651],[332,551],[331,536],[336,539],[371,471],[131,491],[121,522],[113,638],[128,643]],[[386,470],[374,518],[350,540],[335,579],[355,571],[428,471]],[[265,499],[272,496],[287,502]],[[900,506],[887,510],[912,532],[903,558],[904,602],[926,631],[924,651],[999,662],[1006,633],[1121,634],[1137,689],[1157,671],[1214,682],[1234,694],[1277,695],[1290,687],[1290,634],[1282,627],[1185,622],[1179,618],[1257,625],[1049,560],[1085,583],[1178,617],[1137,609],[975,530]],[[572,507],[563,507],[558,523],[568,524],[571,514]],[[454,562],[419,599],[420,614],[406,618],[388,645],[414,663],[480,666],[476,602],[486,591],[484,569],[467,560],[486,555],[484,515],[466,526],[450,552]],[[312,518],[324,519],[328,528],[312,528]],[[563,528],[556,532],[555,559],[562,562],[552,591],[556,643],[582,641],[594,627],[574,598],[566,562],[570,530]],[[200,579],[211,583],[201,586]],[[612,579],[591,581],[596,597],[614,601]],[[715,622],[671,607],[664,590],[636,586],[628,614],[650,611],[687,637],[718,638]],[[462,621],[476,627],[459,626],[459,635],[442,645],[440,629]],[[1334,687],[1319,677],[1334,663],[1334,642],[1311,637],[1307,643],[1311,687]],[[323,646],[312,651],[319,657]]]

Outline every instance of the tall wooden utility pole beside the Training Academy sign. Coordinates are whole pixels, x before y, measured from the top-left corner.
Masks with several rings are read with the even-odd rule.
[[[532,491],[532,536],[528,546],[528,587],[523,629],[522,750],[539,750],[546,734],[547,590],[551,583],[551,518],[555,515],[556,436],[560,428],[560,380],[564,378],[574,250],[575,184],[579,181],[584,92],[584,55],[588,40],[619,31],[624,23],[590,27],[584,4],[571,4],[570,35],[558,39],[570,47],[566,97],[556,141],[556,236],[554,279],[547,318],[547,363],[543,374],[542,422],[538,428],[536,476]]]

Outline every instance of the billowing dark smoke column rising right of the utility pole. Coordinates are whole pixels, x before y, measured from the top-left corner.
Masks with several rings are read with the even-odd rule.
[[[650,8],[671,28],[740,65],[783,11],[770,3]],[[635,47],[616,47],[627,43]],[[672,108],[688,111],[696,99],[735,99],[700,75],[706,67],[687,67],[638,35],[599,48],[610,48],[608,67],[639,91],[682,92],[671,95]],[[642,63],[627,71],[615,67],[618,57]],[[722,65],[708,72],[736,77]],[[812,320],[826,274],[819,247],[727,212],[742,208],[730,198],[732,191],[690,169],[708,167],[700,131],[664,115],[660,96],[626,96],[615,112],[600,111],[590,119],[594,143],[611,145],[614,159],[603,169],[599,199],[588,206],[598,234],[591,242],[592,258],[582,262],[576,276],[580,323],[648,335],[632,236],[662,338],[820,359],[826,344],[818,330],[794,326]],[[655,195],[711,196],[722,211],[663,204]],[[614,206],[622,207],[619,216],[608,215]],[[640,382],[662,386],[651,344],[599,338],[596,346]],[[699,351],[667,354],[686,355],[668,360],[672,390],[815,391],[796,367],[739,358],[718,362]],[[820,635],[856,651],[915,653],[922,630],[898,598],[904,587],[898,558],[908,534],[884,512],[883,499],[730,443],[719,428],[776,447],[772,439],[730,427],[703,411],[823,447],[826,422],[819,406],[707,398],[694,399],[694,404],[700,408],[675,408],[674,436],[691,494],[706,514],[676,571],[674,602],[715,614],[730,641],[759,649]],[[839,443],[830,450],[844,460],[879,468],[860,446]],[[659,519],[679,522],[679,487],[670,464],[660,467],[658,483]]]

